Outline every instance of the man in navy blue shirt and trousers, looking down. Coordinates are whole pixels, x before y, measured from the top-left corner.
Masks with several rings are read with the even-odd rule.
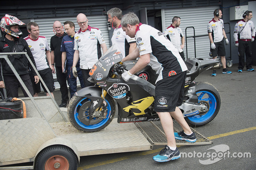
[[[61,42],[60,51],[62,51],[62,72],[68,73],[68,85],[70,98],[73,97],[76,92],[76,77],[72,74],[72,65],[73,65],[73,57],[74,57],[74,35],[75,35],[75,24],[72,21],[64,22],[64,28],[68,35],[64,36]],[[76,64],[77,76],[80,81],[80,85],[84,88],[84,79],[82,70],[79,68],[80,62],[78,61]]]

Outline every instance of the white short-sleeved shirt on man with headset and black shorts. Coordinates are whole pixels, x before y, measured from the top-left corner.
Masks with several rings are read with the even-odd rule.
[[[222,30],[224,29],[223,20],[219,19],[218,22],[212,18],[212,20],[208,23],[208,33],[212,33],[213,42],[222,41],[224,35]]]

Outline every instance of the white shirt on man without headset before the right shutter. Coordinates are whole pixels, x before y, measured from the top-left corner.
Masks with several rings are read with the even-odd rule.
[[[180,48],[180,38],[184,37],[180,27],[169,26],[164,30],[164,35],[169,35],[172,45],[181,53],[183,49]]]

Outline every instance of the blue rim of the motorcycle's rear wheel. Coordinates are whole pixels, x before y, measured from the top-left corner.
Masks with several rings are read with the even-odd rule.
[[[198,100],[207,101],[209,103],[210,108],[208,108],[209,110],[206,114],[190,116],[188,117],[188,119],[192,122],[201,123],[208,120],[214,114],[217,107],[217,101],[215,96],[211,92],[200,91],[196,92],[196,94],[199,94]]]

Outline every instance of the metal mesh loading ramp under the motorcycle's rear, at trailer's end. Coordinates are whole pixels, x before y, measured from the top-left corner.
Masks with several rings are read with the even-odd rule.
[[[164,129],[161,125],[160,121],[154,122],[136,122],[134,123],[144,134],[145,137],[148,138],[148,141],[153,145],[165,145],[167,144],[167,139],[164,134]],[[182,131],[179,123],[173,120],[173,130],[174,132]],[[191,128],[192,132],[196,133],[196,142],[186,142],[183,140],[177,140],[177,145],[200,145],[200,144],[212,144],[213,142],[210,141],[208,138],[204,137],[200,133],[198,133],[195,129]]]

